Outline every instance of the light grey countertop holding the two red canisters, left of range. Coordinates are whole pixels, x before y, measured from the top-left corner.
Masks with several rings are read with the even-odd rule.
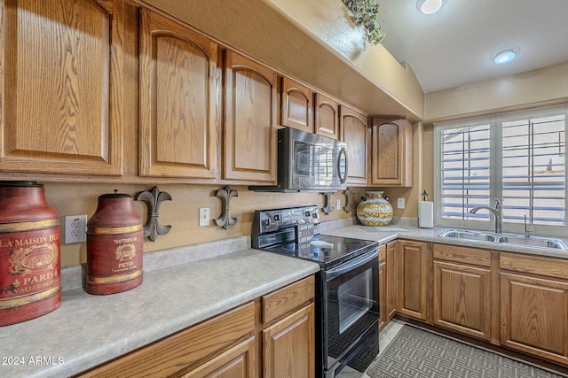
[[[0,328],[0,376],[76,374],[318,271],[248,249],[144,272],[140,286],[122,293],[65,290],[55,311]]]

